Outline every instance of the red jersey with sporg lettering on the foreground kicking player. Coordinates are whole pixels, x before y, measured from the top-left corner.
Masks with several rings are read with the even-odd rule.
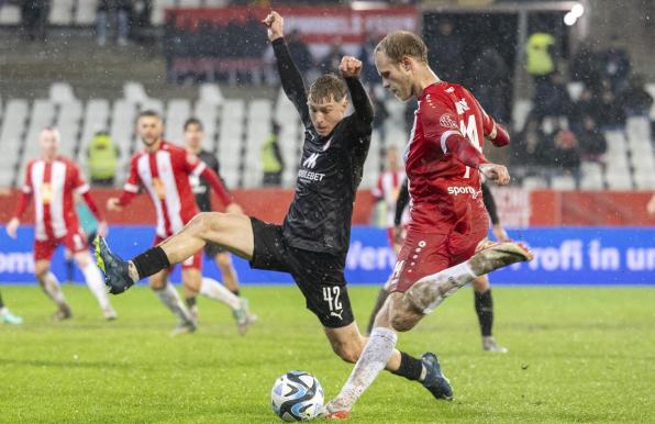
[[[464,138],[481,152],[486,135],[496,137],[496,123],[467,89],[442,81],[423,90],[404,152],[410,230],[469,233],[488,227],[480,174],[451,152]]]

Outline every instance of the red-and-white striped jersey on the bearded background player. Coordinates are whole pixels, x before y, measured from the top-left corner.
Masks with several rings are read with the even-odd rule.
[[[143,186],[157,213],[157,235],[169,237],[198,213],[189,176],[199,177],[206,169],[196,155],[163,141],[156,152],[143,150],[132,157],[119,203],[127,204]]]

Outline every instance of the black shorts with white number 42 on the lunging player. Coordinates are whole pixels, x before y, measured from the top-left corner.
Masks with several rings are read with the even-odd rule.
[[[255,249],[251,267],[288,272],[302,291],[307,309],[323,326],[338,328],[355,321],[344,277],[345,255],[335,256],[289,246],[280,225],[251,217]]]

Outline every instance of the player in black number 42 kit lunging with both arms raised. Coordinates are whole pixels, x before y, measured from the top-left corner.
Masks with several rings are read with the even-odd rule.
[[[282,18],[271,12],[264,24],[282,88],[304,125],[296,194],[282,225],[240,214],[206,212],[130,261],[112,254],[103,238],[97,241],[97,256],[112,293],[121,293],[135,281],[185,260],[209,242],[249,260],[253,268],[289,272],[307,308],[323,325],[334,353],[355,362],[367,339],[354,321],[344,268],[355,191],[373,131],[373,105],[358,79],[362,63],[345,56],[340,66],[345,82],[335,75],[324,75],[308,93],[285,43]],[[345,116],[348,92],[354,113]],[[419,359],[393,350],[386,368],[420,381],[437,399],[452,397],[433,354]]]

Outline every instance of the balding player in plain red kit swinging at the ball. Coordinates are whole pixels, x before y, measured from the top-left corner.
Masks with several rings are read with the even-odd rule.
[[[348,380],[325,405],[324,415],[332,419],[347,417],[385,368],[397,332],[413,328],[476,277],[532,258],[524,246],[514,243],[485,243],[489,221],[480,172],[499,185],[509,183],[510,177],[504,166],[487,161],[481,147],[486,138],[497,146],[508,144],[507,132],[467,89],[438,79],[428,65],[428,48],[419,36],[404,31],[388,34],[375,49],[375,63],[385,88],[402,101],[419,100],[404,152],[412,208],[391,276],[391,294],[377,314]],[[434,355],[423,359],[437,362]],[[443,386],[438,395],[433,394],[451,400],[447,380]]]

